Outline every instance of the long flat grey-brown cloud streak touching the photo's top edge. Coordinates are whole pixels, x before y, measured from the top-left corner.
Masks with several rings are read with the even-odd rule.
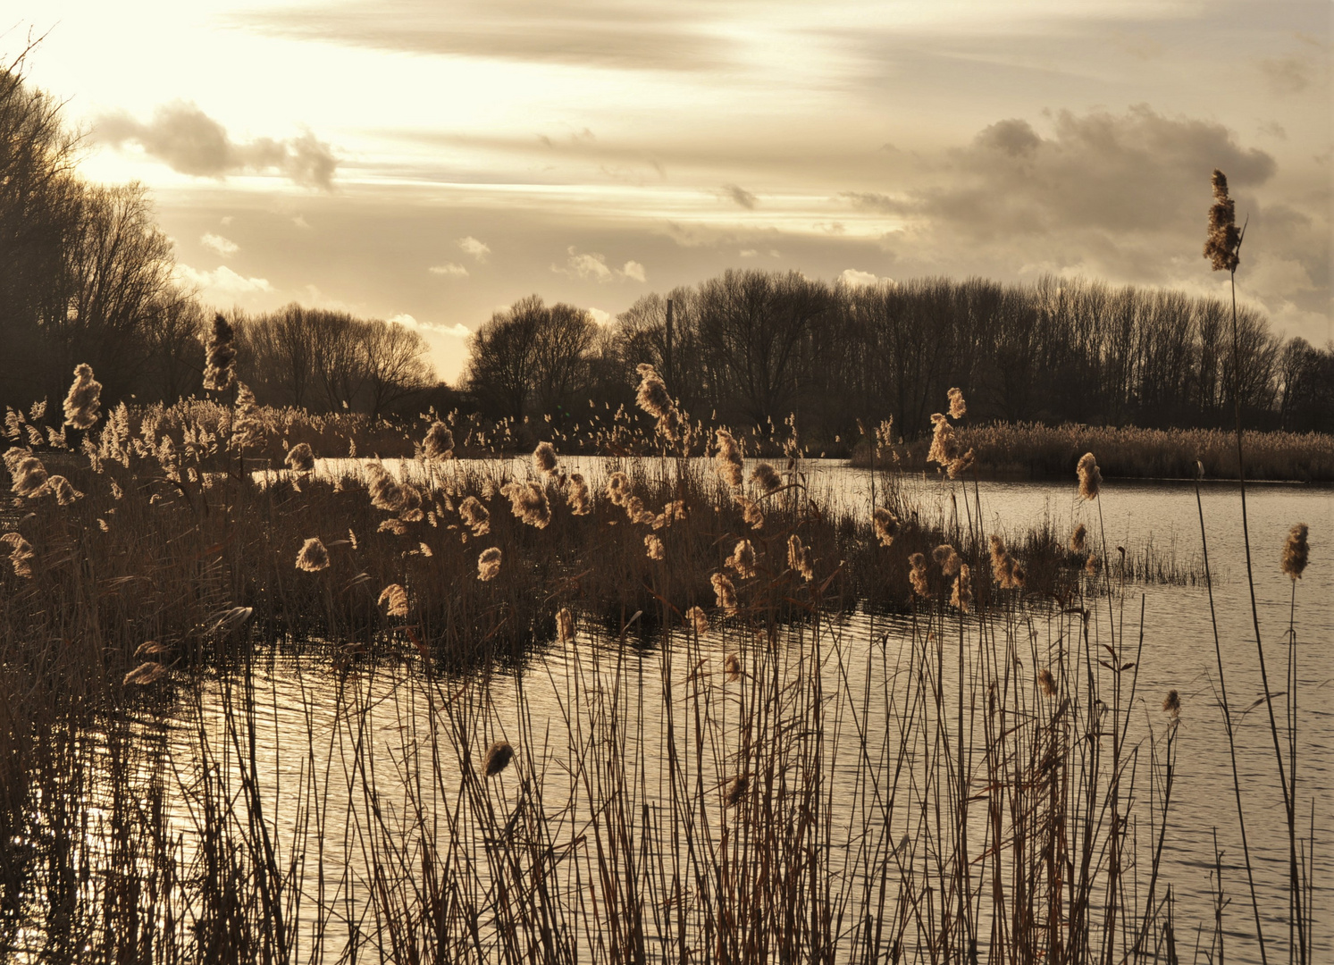
[[[247,13],[281,36],[412,53],[498,57],[622,69],[698,71],[728,60],[698,0],[355,0]]]

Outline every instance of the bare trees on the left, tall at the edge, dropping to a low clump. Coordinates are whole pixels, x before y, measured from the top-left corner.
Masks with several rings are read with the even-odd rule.
[[[77,136],[21,67],[0,67],[0,408],[59,399],[80,362],[111,403],[200,392],[212,310],[176,283],[147,191],[79,176]],[[228,316],[264,403],[383,415],[438,384],[424,339],[395,323],[295,304]]]

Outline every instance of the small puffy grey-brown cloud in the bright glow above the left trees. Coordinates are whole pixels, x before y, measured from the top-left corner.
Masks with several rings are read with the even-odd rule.
[[[163,104],[147,124],[117,112],[97,119],[93,140],[117,149],[137,145],[173,171],[196,178],[277,172],[303,187],[328,191],[339,160],[307,131],[299,137],[233,141],[227,128],[196,104]]]

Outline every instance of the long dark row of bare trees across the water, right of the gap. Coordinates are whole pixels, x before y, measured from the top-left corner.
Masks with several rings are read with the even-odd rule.
[[[559,424],[586,399],[628,403],[648,362],[695,418],[764,427],[795,414],[827,442],[859,420],[923,432],[954,386],[978,420],[1214,427],[1239,395],[1251,426],[1334,428],[1334,343],[1285,342],[1241,307],[1235,359],[1234,374],[1231,306],[1178,291],[726,271],[604,327],[522,299],[474,334],[463,384],[486,415]]]

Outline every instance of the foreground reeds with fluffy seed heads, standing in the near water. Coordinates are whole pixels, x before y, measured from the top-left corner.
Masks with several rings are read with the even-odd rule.
[[[1151,566],[1006,546],[962,482],[947,522],[892,475],[831,511],[795,444],[704,467],[644,368],[620,440],[658,455],[595,480],[460,464],[444,422],[392,471],[289,435],[256,474],[240,388],[99,419],[80,376],[65,472],[5,454],[0,952],[1175,961]]]

